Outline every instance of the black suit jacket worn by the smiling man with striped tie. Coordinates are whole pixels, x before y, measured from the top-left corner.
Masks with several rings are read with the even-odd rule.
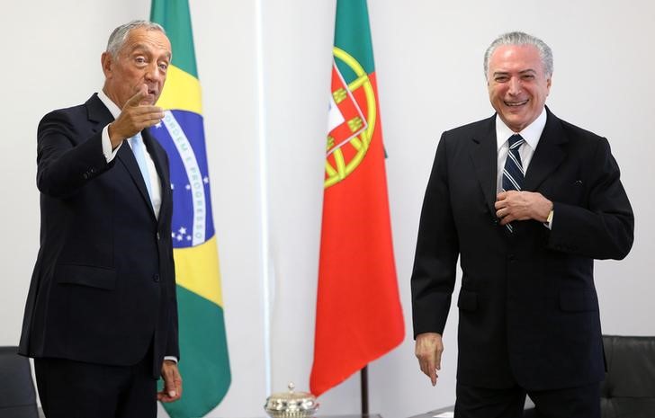
[[[548,111],[548,110],[547,110]],[[552,230],[498,224],[495,116],[444,132],[427,185],[411,278],[415,335],[443,333],[462,267],[462,384],[532,390],[604,376],[594,259],[622,259],[633,211],[606,138],[548,111],[526,191],[554,204]]]

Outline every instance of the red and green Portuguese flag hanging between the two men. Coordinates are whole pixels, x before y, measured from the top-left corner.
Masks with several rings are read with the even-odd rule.
[[[316,396],[405,335],[365,0],[337,0],[333,52],[310,376]]]

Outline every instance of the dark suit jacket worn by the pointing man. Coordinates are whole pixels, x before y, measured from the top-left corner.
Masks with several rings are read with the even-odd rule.
[[[142,131],[162,184],[157,220],[130,147],[103,156],[112,120],[94,94],[40,121],[40,250],[20,353],[133,365],[152,345],[157,376],[165,355],[179,358],[168,159]]]

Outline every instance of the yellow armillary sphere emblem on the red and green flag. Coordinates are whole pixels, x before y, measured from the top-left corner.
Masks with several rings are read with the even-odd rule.
[[[345,52],[345,50],[335,47],[333,49],[333,54],[336,59],[340,59],[345,63],[345,65],[350,67],[354,71],[355,76],[357,76],[353,82],[347,85],[348,90],[354,92],[359,88],[363,88],[363,92],[366,96],[366,114],[364,117],[366,118],[367,127],[366,129],[363,129],[359,135],[354,136],[347,143],[336,148],[331,154],[333,158],[326,158],[326,180],[324,183],[326,189],[335,185],[337,182],[344,180],[348,174],[353,173],[357,166],[362,163],[364,156],[366,156],[366,151],[368,151],[369,145],[371,144],[377,116],[375,93],[373,92],[373,86],[366,71],[364,71],[363,67],[357,62],[357,60]],[[328,136],[328,148],[332,141],[333,138]],[[342,151],[342,148],[344,147],[354,148],[354,156],[352,156],[349,161],[345,160],[344,152]],[[331,159],[334,159],[334,162],[331,162]]]

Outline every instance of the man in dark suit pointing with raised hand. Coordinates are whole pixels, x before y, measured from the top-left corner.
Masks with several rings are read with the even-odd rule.
[[[40,121],[40,251],[20,353],[48,418],[154,418],[157,398],[182,394],[168,159],[147,129],[164,117],[170,59],[161,26],[121,25],[103,90]]]

